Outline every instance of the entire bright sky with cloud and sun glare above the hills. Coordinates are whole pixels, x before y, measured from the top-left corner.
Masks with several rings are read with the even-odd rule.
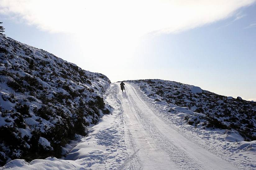
[[[112,82],[164,79],[256,101],[254,0],[0,0],[0,22]]]

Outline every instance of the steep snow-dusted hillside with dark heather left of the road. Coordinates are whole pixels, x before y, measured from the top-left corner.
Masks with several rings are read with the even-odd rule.
[[[0,35],[0,165],[65,154],[62,147],[109,113],[109,79]]]

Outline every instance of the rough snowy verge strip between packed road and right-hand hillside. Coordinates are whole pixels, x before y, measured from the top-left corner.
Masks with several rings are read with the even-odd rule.
[[[162,119],[168,126],[170,126],[172,129],[177,131],[179,134],[187,138],[188,140],[194,142],[200,147],[203,147],[207,151],[213,153],[217,157],[221,158],[222,160],[225,160],[226,162],[229,162],[230,164],[233,164],[236,166],[235,169],[245,169],[249,170],[251,169],[249,166],[251,164],[251,161],[248,158],[244,158],[240,161],[242,161],[244,164],[240,164],[239,161],[233,159],[234,155],[233,152],[223,152],[221,150],[221,145],[215,144],[215,141],[212,142],[211,140],[205,140],[206,137],[202,138],[202,135],[204,133],[203,130],[195,129],[193,126],[187,126],[184,124],[184,121],[180,117],[176,117],[173,114],[170,114],[167,112],[167,108],[164,105],[156,104],[154,100],[149,98],[137,84],[132,83],[132,86],[135,88],[135,91],[137,92],[138,96],[148,105],[150,110],[153,111],[160,119]],[[211,135],[215,135],[214,132],[210,132]],[[208,139],[210,137],[210,134],[207,134]],[[217,140],[217,139],[216,139]],[[227,144],[229,144],[228,142]],[[235,156],[235,158],[237,158]],[[248,166],[248,167],[246,167]]]

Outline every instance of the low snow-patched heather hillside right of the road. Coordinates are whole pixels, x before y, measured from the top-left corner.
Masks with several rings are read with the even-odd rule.
[[[188,84],[146,79],[131,80],[167,112],[199,129],[232,130],[242,136],[237,141],[256,140],[256,102],[226,97]]]

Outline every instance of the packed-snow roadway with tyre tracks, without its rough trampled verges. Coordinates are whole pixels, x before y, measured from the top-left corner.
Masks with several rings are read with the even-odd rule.
[[[118,91],[130,155],[125,169],[237,169],[161,120],[126,83]]]

